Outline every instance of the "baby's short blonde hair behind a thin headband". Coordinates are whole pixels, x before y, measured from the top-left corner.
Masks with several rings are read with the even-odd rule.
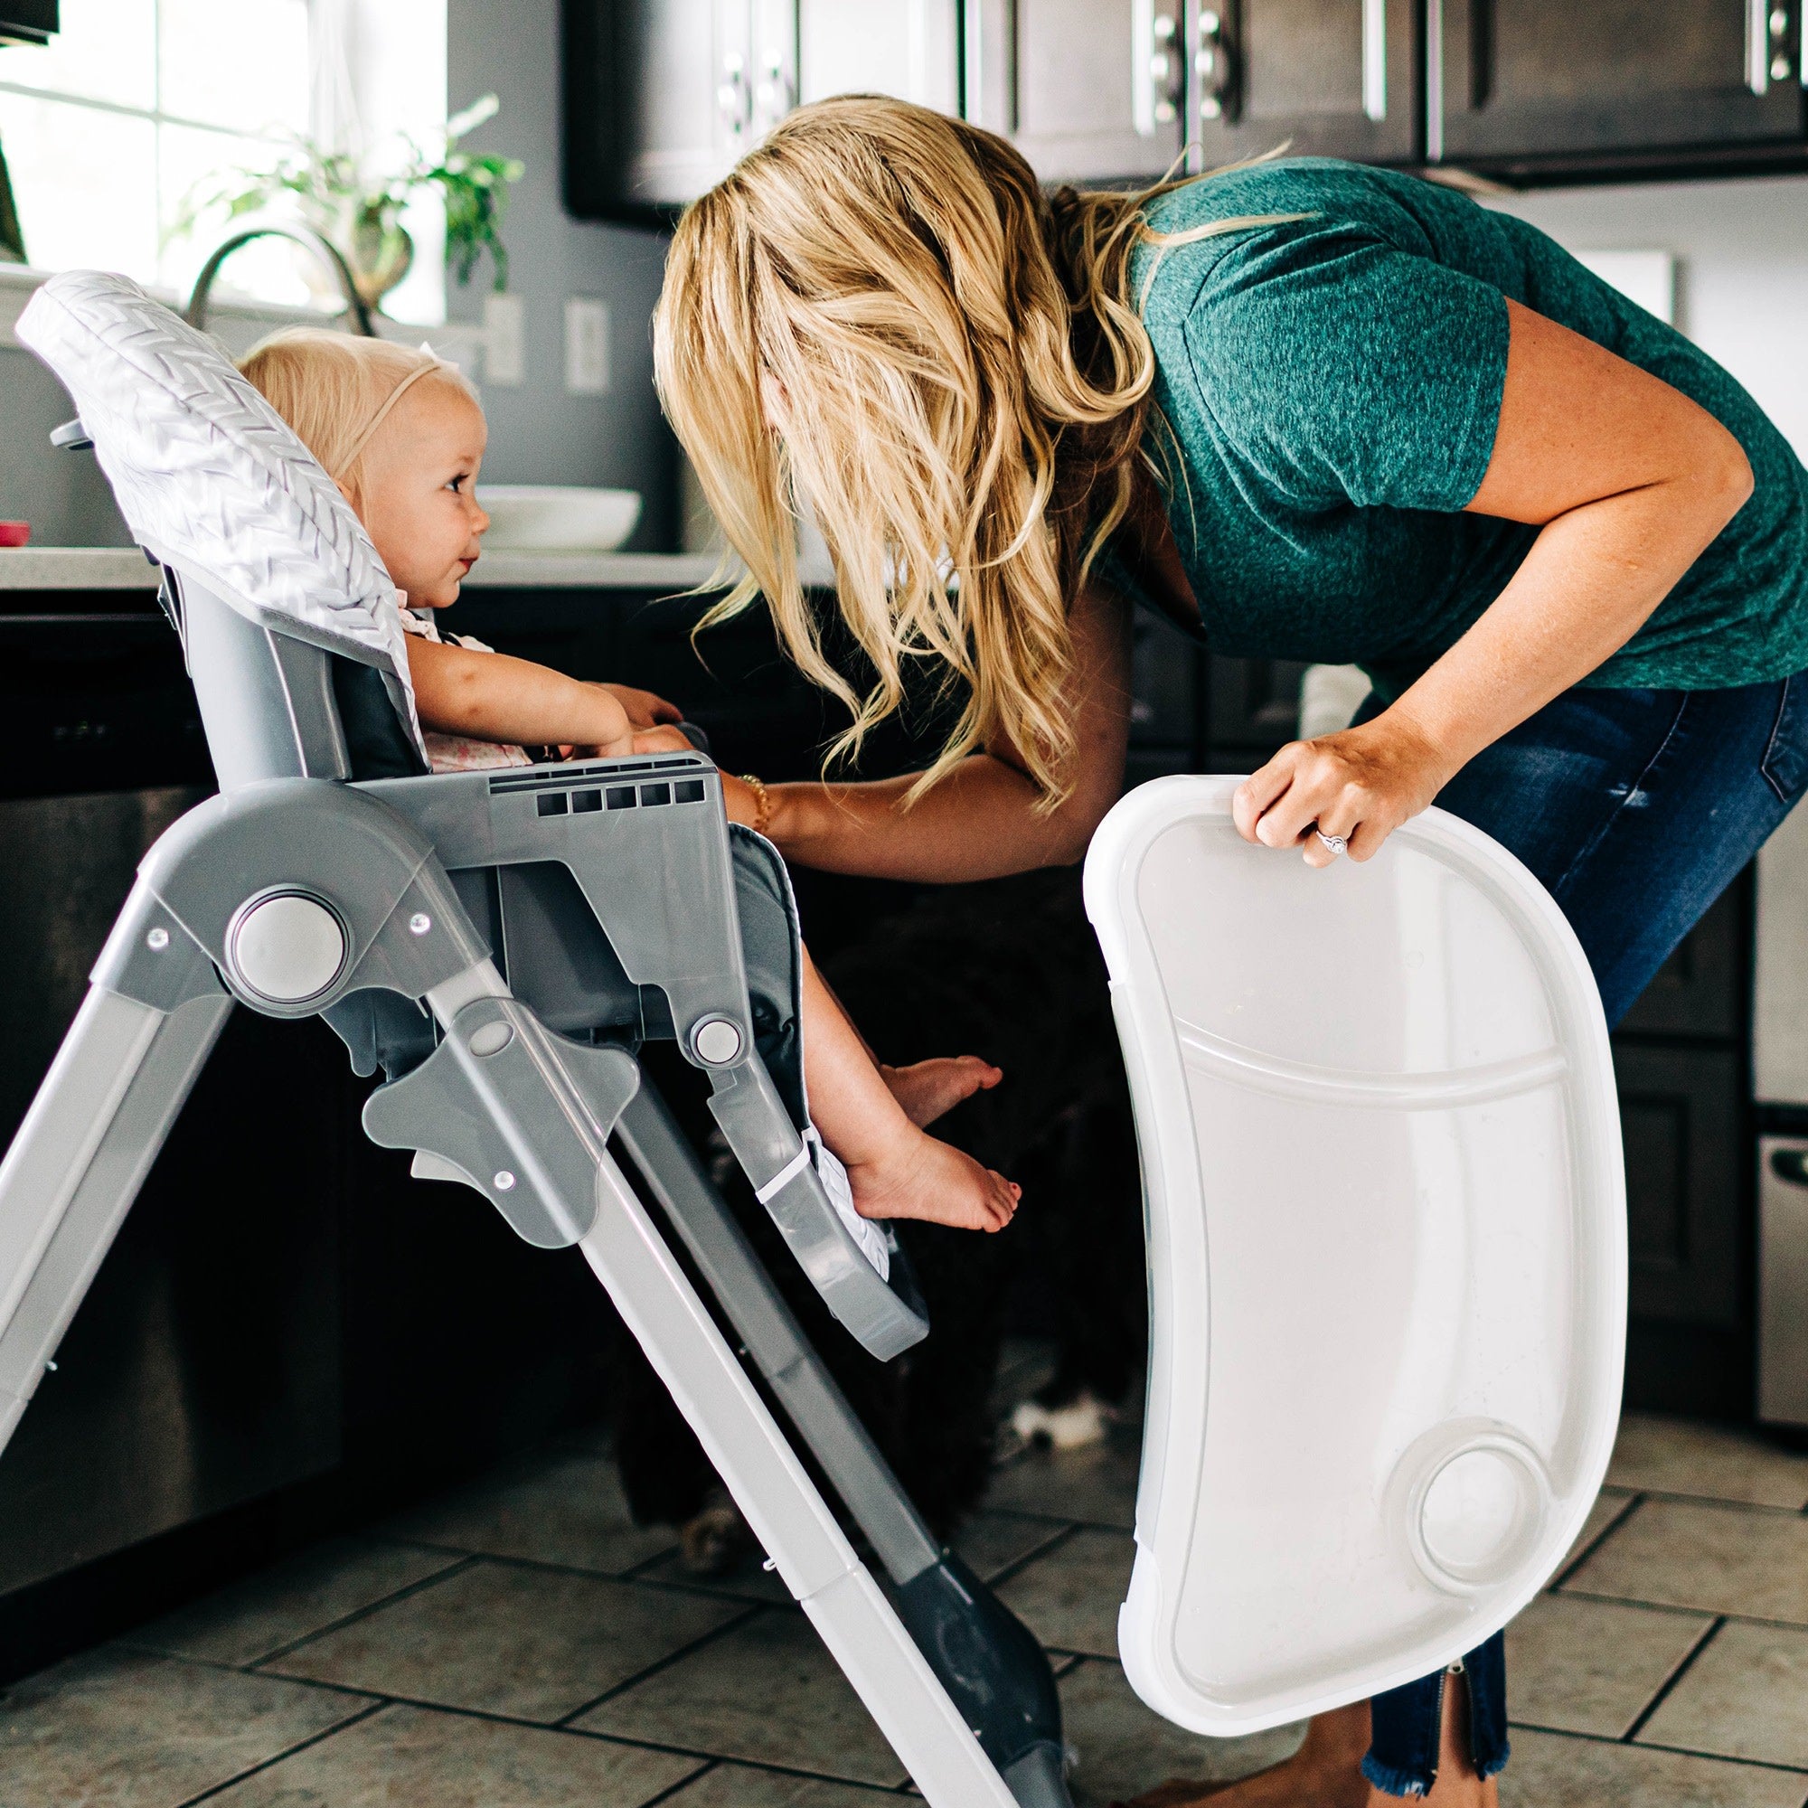
[[[239,360],[239,371],[325,474],[351,492],[354,508],[365,452],[405,389],[421,380],[447,381],[477,400],[463,372],[425,345],[416,351],[322,327],[271,333]]]

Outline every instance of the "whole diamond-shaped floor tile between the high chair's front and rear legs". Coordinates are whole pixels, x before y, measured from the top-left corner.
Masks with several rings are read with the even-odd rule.
[[[309,1640],[269,1669],[553,1721],[739,1611],[703,1595],[479,1562]]]

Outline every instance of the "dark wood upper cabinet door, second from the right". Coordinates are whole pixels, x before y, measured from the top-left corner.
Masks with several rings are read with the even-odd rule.
[[[1220,0],[1188,9],[1188,136],[1204,166],[1289,145],[1302,157],[1423,154],[1414,0]]]

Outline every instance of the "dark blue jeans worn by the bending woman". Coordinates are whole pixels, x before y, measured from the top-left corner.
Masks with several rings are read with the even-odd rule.
[[[1358,721],[1380,714],[1370,698]],[[1477,754],[1437,805],[1544,882],[1618,1023],[1671,949],[1808,788],[1808,673],[1734,691],[1566,691]],[[1455,1680],[1455,1678],[1452,1678]],[[1506,1763],[1506,1656],[1463,1663],[1470,1754]],[[1421,1795],[1437,1775],[1446,1676],[1374,1698],[1363,1775]]]

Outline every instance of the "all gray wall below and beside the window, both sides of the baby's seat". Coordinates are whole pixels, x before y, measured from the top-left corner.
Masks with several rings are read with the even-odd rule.
[[[450,92],[463,107],[501,96],[474,150],[526,163],[510,193],[510,293],[526,311],[526,380],[485,385],[494,483],[586,483],[645,497],[635,548],[676,544],[674,447],[653,394],[653,304],[665,257],[656,233],[588,226],[559,202],[559,0],[450,0]],[[468,287],[447,282],[454,320],[481,320],[488,260]],[[609,304],[611,391],[564,391],[564,300]],[[0,347],[0,521],[29,521],[38,546],[116,546],[130,535],[85,454],[52,452],[45,434],[74,409],[25,351]]]

